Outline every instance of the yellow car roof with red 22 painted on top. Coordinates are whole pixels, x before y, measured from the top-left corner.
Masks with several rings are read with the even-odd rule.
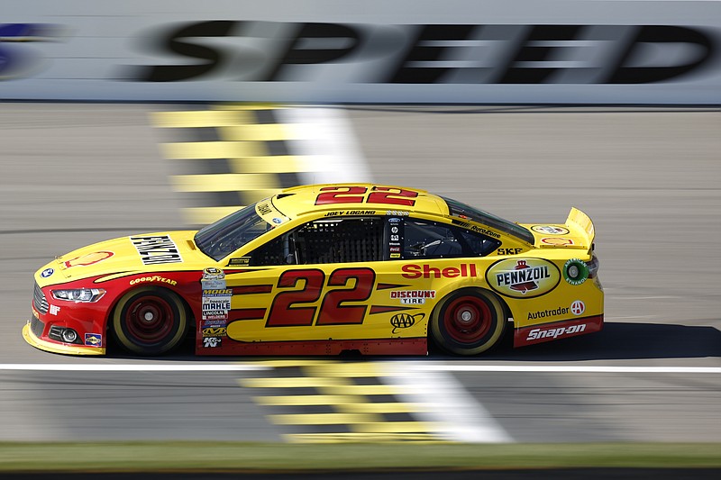
[[[374,195],[375,194],[375,195]],[[318,184],[295,186],[270,198],[288,218],[327,211],[401,211],[446,216],[443,198],[425,190],[378,184]]]

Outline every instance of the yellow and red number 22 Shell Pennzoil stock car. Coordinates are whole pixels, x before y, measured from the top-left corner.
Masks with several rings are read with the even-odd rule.
[[[423,190],[290,188],[200,231],[70,252],[35,274],[31,345],[140,355],[424,355],[600,331],[594,227],[507,222]]]

